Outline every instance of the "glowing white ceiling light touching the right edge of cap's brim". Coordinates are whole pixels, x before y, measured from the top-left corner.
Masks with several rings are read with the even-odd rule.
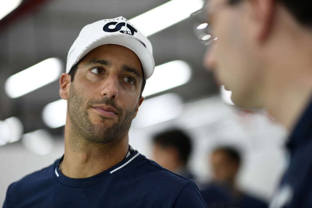
[[[146,81],[142,95],[149,96],[185,84],[191,75],[191,67],[185,61],[175,60],[158,65],[153,76]]]

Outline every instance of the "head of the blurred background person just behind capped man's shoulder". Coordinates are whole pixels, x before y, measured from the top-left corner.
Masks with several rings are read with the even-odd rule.
[[[153,135],[153,160],[162,167],[188,179],[195,176],[187,167],[192,150],[189,135],[181,129],[167,129]]]

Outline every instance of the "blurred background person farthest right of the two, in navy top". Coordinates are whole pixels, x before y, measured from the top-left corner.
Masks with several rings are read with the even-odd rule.
[[[212,183],[227,190],[231,207],[266,208],[268,206],[263,200],[238,188],[236,177],[241,166],[241,156],[234,147],[220,146],[215,148],[210,157],[210,165],[213,173]]]

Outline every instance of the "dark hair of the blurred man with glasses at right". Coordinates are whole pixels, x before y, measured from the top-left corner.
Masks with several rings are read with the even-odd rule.
[[[228,3],[234,5],[242,0],[228,0]],[[312,26],[312,12],[310,0],[276,0],[284,4],[294,18],[304,26]]]

